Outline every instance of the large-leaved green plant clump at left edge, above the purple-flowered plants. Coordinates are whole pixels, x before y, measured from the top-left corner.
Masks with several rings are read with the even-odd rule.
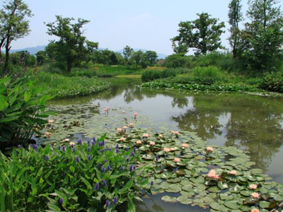
[[[11,78],[0,79],[0,148],[27,143],[35,128],[42,127],[48,117],[45,113],[47,89],[35,88],[33,81],[24,83],[23,78],[15,82]]]

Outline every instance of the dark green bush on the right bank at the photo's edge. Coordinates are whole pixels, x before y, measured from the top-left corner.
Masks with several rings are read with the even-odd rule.
[[[266,73],[260,82],[260,88],[283,93],[283,73]]]

